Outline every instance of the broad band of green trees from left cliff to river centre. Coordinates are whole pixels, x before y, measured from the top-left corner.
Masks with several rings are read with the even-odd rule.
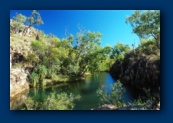
[[[109,57],[112,48],[101,48],[99,32],[78,33],[77,46],[73,47],[74,37],[70,35],[62,40],[54,35],[47,36],[47,41],[33,41],[32,53],[28,55],[28,61],[34,65],[42,64],[48,70],[48,78],[53,74],[68,76],[83,76],[85,72],[92,73],[101,70],[109,70]],[[31,55],[32,54],[32,55]],[[36,61],[36,58],[39,60]],[[105,62],[105,64],[104,64]]]

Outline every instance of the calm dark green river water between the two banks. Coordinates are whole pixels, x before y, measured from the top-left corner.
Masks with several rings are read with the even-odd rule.
[[[89,75],[85,80],[80,82],[69,82],[69,83],[60,83],[53,87],[43,88],[43,89],[30,89],[29,92],[25,92],[19,98],[11,100],[10,108],[11,109],[21,109],[22,105],[17,105],[17,102],[22,102],[23,100],[31,97],[37,102],[44,101],[47,96],[54,92],[59,94],[62,92],[73,93],[74,95],[80,95],[80,101],[75,102],[74,110],[90,110],[91,108],[99,106],[99,99],[97,98],[96,91],[99,88],[103,88],[104,91],[110,92],[110,86],[116,82],[107,72],[101,72],[97,75]],[[138,94],[132,88],[124,86],[126,89],[125,94],[123,95],[124,101],[134,101],[137,99]]]

